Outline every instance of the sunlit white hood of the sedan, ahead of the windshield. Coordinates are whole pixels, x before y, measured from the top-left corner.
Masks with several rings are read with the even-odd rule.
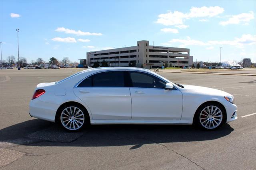
[[[197,94],[202,94],[202,95],[212,95],[212,96],[232,96],[231,94],[217,90],[217,89],[212,89],[209,87],[202,87],[202,86],[195,86],[195,85],[183,85],[184,88],[182,88],[183,92],[186,93],[197,93]]]

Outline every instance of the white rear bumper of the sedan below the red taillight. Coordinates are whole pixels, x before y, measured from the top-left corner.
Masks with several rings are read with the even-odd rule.
[[[55,122],[55,115],[58,105],[46,103],[38,99],[31,100],[29,103],[29,115],[38,119]]]

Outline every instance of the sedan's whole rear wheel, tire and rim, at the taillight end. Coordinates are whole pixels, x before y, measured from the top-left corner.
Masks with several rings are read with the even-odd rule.
[[[77,131],[88,123],[87,111],[80,105],[64,106],[60,111],[60,124],[66,130]]]

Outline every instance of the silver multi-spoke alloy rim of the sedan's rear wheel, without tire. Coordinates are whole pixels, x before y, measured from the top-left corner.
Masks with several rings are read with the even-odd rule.
[[[67,107],[60,114],[63,127],[68,130],[77,130],[84,125],[84,113],[77,107]]]

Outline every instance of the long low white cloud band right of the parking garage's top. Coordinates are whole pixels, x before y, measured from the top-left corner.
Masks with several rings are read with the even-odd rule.
[[[162,43],[163,45],[172,45],[173,43],[181,43],[183,46],[187,45],[233,45],[238,48],[243,48],[245,45],[254,45],[256,44],[256,36],[250,34],[244,34],[241,38],[234,38],[234,40],[211,40],[208,42],[202,42],[200,40],[193,40],[190,37],[186,39],[172,39],[168,43]]]

